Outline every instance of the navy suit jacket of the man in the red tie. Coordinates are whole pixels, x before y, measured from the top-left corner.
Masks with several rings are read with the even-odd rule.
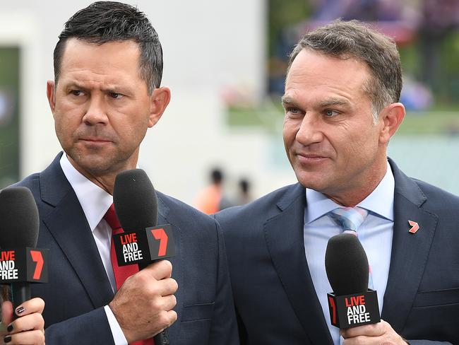
[[[17,185],[28,187],[40,213],[37,247],[49,249],[49,283],[34,284],[44,299],[47,345],[114,344],[103,306],[112,288],[85,214],[61,170],[61,153],[49,167]],[[179,289],[178,320],[170,343],[239,344],[221,230],[191,206],[157,193],[158,224],[172,225],[170,259]]]

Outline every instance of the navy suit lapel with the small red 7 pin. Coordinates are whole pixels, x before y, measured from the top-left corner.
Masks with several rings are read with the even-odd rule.
[[[395,178],[394,227],[391,267],[381,318],[388,321],[396,332],[401,332],[419,288],[438,216],[422,209],[427,199],[424,193],[391,160],[389,162]],[[409,233],[412,226],[408,221],[419,224],[416,233]]]

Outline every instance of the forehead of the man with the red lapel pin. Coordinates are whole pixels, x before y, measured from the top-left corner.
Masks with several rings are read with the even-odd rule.
[[[303,49],[290,66],[285,94],[305,91],[357,98],[364,95],[364,84],[370,77],[366,64],[355,58],[341,59]]]

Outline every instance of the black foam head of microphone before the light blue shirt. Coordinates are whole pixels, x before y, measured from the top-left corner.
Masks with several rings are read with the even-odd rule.
[[[325,269],[335,296],[368,290],[368,259],[355,235],[341,233],[328,240]]]

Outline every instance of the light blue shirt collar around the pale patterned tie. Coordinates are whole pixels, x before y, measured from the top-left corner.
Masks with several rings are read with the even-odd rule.
[[[387,163],[386,175],[379,185],[374,189],[368,197],[360,201],[357,206],[377,214],[383,218],[393,221],[393,196],[395,189],[395,180],[391,170],[391,165]],[[328,199],[321,192],[316,192],[313,189],[306,188],[306,223],[311,223],[324,214],[338,207],[342,207],[335,201]]]

